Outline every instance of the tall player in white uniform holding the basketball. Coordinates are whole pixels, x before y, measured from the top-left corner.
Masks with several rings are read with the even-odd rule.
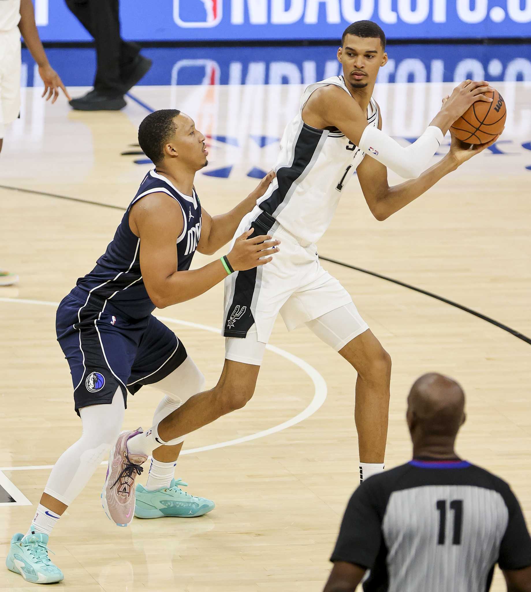
[[[357,371],[354,419],[361,478],[383,470],[391,359],[345,288],[320,266],[315,243],[355,169],[368,207],[375,218],[385,220],[485,149],[489,144],[471,148],[454,139],[448,155],[425,170],[451,124],[475,101],[491,100],[484,95],[490,89],[487,82],[461,83],[422,136],[404,148],[381,131],[372,97],[378,70],[387,63],[385,49],[386,37],[377,24],[356,22],[345,30],[338,49],[343,75],[306,88],[299,112],[284,131],[276,178],[235,235],[251,229],[251,236],[271,233],[282,240],[283,249],[271,265],[225,279],[226,359],[218,385],[132,437],[130,452],[147,455],[158,442],[243,407],[254,393],[280,312],[288,329],[306,324]],[[387,168],[411,180],[389,187]],[[105,496],[112,499],[116,493],[108,480]],[[134,500],[129,503],[132,507]]]

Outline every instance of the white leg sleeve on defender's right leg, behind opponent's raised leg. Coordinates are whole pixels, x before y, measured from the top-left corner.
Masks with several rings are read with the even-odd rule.
[[[195,362],[188,356],[186,360],[166,378],[150,384],[164,392],[164,398],[158,404],[153,416],[153,425],[161,422],[164,417],[178,409],[184,401],[205,390],[205,377]],[[167,445],[174,446],[184,441],[184,436],[170,440]]]

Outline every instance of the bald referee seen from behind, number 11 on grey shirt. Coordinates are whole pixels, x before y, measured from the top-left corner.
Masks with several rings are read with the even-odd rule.
[[[324,592],[485,592],[496,563],[508,592],[531,592],[531,538],[505,481],[454,451],[465,421],[457,382],[426,374],[407,399],[413,460],[351,497]]]

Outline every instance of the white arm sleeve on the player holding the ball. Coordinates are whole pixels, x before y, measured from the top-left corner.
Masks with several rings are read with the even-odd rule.
[[[360,148],[404,179],[416,179],[429,165],[444,138],[436,126],[429,126],[418,140],[403,147],[377,127],[367,126],[361,134]]]

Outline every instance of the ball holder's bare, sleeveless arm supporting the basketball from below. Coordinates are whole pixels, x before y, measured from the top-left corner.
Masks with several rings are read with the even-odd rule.
[[[443,101],[446,102],[448,98],[445,97]],[[378,112],[380,112],[380,107],[378,107]],[[381,126],[380,113],[378,129],[381,130]],[[377,220],[386,220],[391,214],[402,210],[405,205],[410,204],[428,191],[443,176],[448,175],[452,170],[455,170],[459,165],[462,165],[472,156],[479,154],[488,146],[492,146],[498,139],[498,136],[496,136],[487,144],[471,146],[456,139],[453,133],[451,133],[451,136],[452,144],[448,154],[439,160],[436,165],[425,170],[417,179],[392,187],[387,182],[387,167],[369,155],[365,156],[356,170],[365,201],[367,201],[371,213]]]

